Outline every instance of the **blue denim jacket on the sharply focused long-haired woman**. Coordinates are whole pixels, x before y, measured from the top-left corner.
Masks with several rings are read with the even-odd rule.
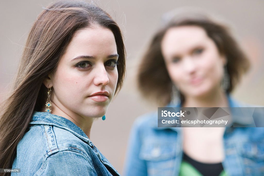
[[[119,175],[87,135],[72,121],[35,112],[17,145],[11,175]]]

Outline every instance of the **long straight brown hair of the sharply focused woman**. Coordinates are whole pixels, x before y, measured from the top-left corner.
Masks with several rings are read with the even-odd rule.
[[[45,77],[56,70],[74,32],[86,27],[110,29],[119,54],[117,93],[125,75],[125,47],[121,30],[108,13],[84,1],[57,1],[34,22],[18,67],[15,85],[4,101],[0,119],[0,168],[12,168],[16,146],[26,132],[34,111],[46,99]],[[5,173],[8,175],[8,173]]]

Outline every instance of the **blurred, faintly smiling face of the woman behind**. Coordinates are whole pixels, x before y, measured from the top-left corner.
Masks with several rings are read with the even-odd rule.
[[[199,97],[220,89],[226,59],[203,28],[170,28],[161,49],[169,76],[184,96]]]

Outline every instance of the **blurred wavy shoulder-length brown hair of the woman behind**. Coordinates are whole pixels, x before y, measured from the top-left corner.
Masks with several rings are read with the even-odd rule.
[[[177,17],[177,19],[172,18],[155,33],[138,70],[138,87],[142,95],[151,101],[154,100],[159,106],[165,106],[171,102],[173,83],[161,52],[161,41],[169,28],[179,26],[201,27],[214,41],[219,53],[227,58],[226,66],[230,76],[230,86],[226,92],[232,92],[242,73],[249,68],[248,58],[226,25],[199,13]],[[184,96],[182,94],[180,96],[181,103],[183,103]]]

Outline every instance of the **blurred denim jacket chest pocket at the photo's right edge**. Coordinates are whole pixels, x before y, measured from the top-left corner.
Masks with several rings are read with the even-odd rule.
[[[240,154],[247,175],[264,173],[264,141],[243,144]]]

